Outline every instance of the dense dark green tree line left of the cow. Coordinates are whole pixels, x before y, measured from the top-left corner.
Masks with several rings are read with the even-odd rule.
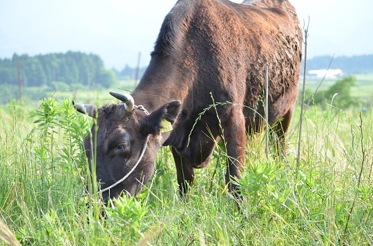
[[[115,73],[104,68],[96,54],[66,52],[40,54],[14,54],[12,59],[0,59],[0,84],[17,85],[20,64],[21,82],[25,86],[102,85],[107,88],[115,82]]]

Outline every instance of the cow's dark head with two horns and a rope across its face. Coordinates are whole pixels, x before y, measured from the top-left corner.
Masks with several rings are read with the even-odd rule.
[[[111,95],[123,103],[97,108],[73,101],[77,111],[96,119],[84,147],[90,170],[95,163],[104,203],[122,191],[133,195],[149,181],[160,148],[162,122],[173,123],[180,111],[180,101],[170,101],[149,114],[144,107],[135,106],[131,95]]]

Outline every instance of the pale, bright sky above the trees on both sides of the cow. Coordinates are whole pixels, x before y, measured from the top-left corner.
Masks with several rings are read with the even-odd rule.
[[[68,50],[99,54],[106,67],[147,65],[176,0],[0,0],[0,58]],[[235,2],[241,2],[235,1]],[[309,24],[308,56],[373,54],[372,0],[293,0]]]

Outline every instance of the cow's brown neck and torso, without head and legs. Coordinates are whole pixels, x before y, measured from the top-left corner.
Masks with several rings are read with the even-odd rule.
[[[242,108],[247,125],[260,119],[249,109],[263,114],[260,95],[267,65],[270,123],[294,105],[300,25],[287,1],[269,1],[273,4],[263,8],[266,2],[179,0],[166,16],[151,63],[133,92],[135,101],[150,110],[167,100],[181,101],[181,114],[165,145],[187,151],[192,129],[218,125],[216,112],[224,121],[234,120],[231,112],[237,105],[246,106]],[[232,104],[206,111],[213,101]]]

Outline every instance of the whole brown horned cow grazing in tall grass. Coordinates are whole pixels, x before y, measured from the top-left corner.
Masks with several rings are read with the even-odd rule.
[[[247,132],[262,123],[265,67],[269,124],[278,123],[283,139],[298,94],[301,46],[300,24],[287,0],[179,0],[164,19],[149,67],[131,96],[112,93],[124,103],[98,109],[75,104],[90,116],[98,112],[97,150],[90,151],[89,136],[84,145],[90,160],[97,156],[104,201],[122,191],[138,192],[166,145],[180,192],[186,193],[193,168],[207,166],[222,139],[229,156],[225,182],[234,191],[231,180],[240,177],[245,163]],[[195,121],[214,102],[225,104]]]

